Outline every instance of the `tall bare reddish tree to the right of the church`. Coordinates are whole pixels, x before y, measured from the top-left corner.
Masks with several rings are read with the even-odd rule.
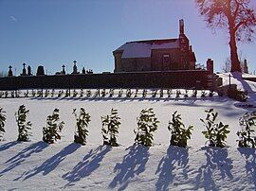
[[[251,42],[256,26],[254,9],[250,0],[195,0],[200,14],[212,29],[227,28],[229,31],[229,48],[231,72],[241,72],[237,54],[237,42]]]

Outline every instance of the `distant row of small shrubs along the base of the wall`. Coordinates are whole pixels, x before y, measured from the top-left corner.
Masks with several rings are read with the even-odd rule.
[[[82,97],[82,96],[86,96],[86,97],[113,97],[114,96],[114,89],[110,89],[109,91],[107,91],[106,89],[97,89],[94,93],[91,90],[86,90],[84,91],[83,89],[80,90],[80,92],[78,92],[77,90],[73,90],[72,91],[72,95],[70,93],[69,90],[59,90],[59,92],[56,92],[54,89],[51,90],[51,92],[49,90],[45,91],[45,94],[42,90],[38,90],[38,91],[34,91],[32,90],[30,93],[27,90],[24,93],[25,97],[28,97],[29,95],[32,97],[54,97],[57,94],[58,97]],[[135,91],[132,91],[131,89],[126,89],[126,91],[124,91],[123,89],[119,89],[118,92],[118,97],[121,96],[125,96],[125,97],[138,97],[138,89],[136,89]],[[179,98],[183,95],[184,98],[189,97],[189,90],[185,90],[184,94],[181,94],[180,90],[175,90],[175,92],[172,89],[168,89],[166,91],[166,94],[168,97],[171,97],[172,95],[175,94],[176,98]],[[21,92],[20,91],[5,91],[5,92],[0,92],[0,97],[20,97],[21,96]],[[144,89],[142,90],[142,97],[146,97],[146,96],[151,96],[153,98],[155,97],[163,97],[164,96],[164,90],[160,89],[160,90],[152,90],[151,93],[148,93],[148,90]],[[196,97],[198,96],[197,90],[192,90],[192,97]],[[206,93],[206,91],[202,90],[201,91],[201,97],[205,97],[205,96],[213,96],[213,91],[210,91],[209,94]]]

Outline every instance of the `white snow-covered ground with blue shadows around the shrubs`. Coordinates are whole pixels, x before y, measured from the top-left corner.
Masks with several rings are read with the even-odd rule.
[[[229,76],[224,74],[223,76]],[[224,82],[226,78],[224,78]],[[5,141],[0,142],[0,190],[255,190],[256,150],[238,148],[238,120],[256,109],[256,83],[232,79],[248,90],[250,107],[227,97],[201,98],[1,98],[7,112]],[[184,92],[182,92],[184,93]],[[191,93],[192,94],[192,93]],[[32,125],[30,142],[17,142],[14,113],[24,104]],[[251,107],[252,106],[252,107]],[[74,108],[85,108],[91,115],[86,146],[73,143]],[[134,146],[137,116],[152,107],[160,121],[154,147]],[[64,120],[62,140],[42,142],[46,116],[60,109]],[[102,146],[101,116],[118,109],[121,118],[120,147]],[[227,148],[209,148],[200,118],[213,108],[218,120],[229,124]],[[168,122],[174,111],[184,123],[193,125],[189,148],[170,147]]]

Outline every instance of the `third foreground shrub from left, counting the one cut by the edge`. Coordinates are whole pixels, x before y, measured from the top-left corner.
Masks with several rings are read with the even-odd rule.
[[[61,132],[64,128],[64,121],[60,122],[59,109],[55,109],[52,115],[46,118],[46,127],[43,128],[43,141],[48,144],[53,144],[58,139],[61,139]]]

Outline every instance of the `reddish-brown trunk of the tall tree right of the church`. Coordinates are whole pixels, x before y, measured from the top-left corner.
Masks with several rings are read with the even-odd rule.
[[[231,26],[229,27],[229,34],[230,34],[229,47],[230,47],[231,72],[241,72],[240,61],[238,59],[238,54],[237,54],[235,30]]]

